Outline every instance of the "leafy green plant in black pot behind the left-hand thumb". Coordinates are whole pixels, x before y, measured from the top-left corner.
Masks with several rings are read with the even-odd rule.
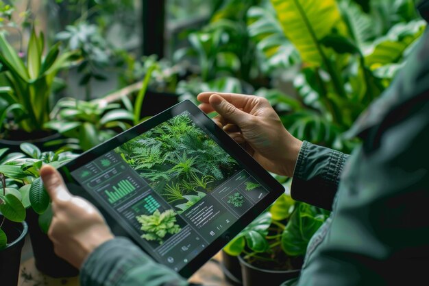
[[[10,182],[6,192],[15,195],[22,204],[22,207],[21,204],[16,206],[16,210],[19,210],[21,215],[22,211],[24,212],[23,219],[26,218],[29,224],[36,267],[53,277],[76,276],[77,270],[56,256],[52,242],[47,237],[51,221],[50,200],[39,176],[43,164],[49,163],[58,167],[75,158],[75,154],[62,151],[40,152],[38,147],[31,143],[21,144],[21,150],[24,154],[6,154],[7,148],[0,150],[0,154],[6,154],[0,161],[0,173]],[[2,213],[5,214],[4,211]]]

